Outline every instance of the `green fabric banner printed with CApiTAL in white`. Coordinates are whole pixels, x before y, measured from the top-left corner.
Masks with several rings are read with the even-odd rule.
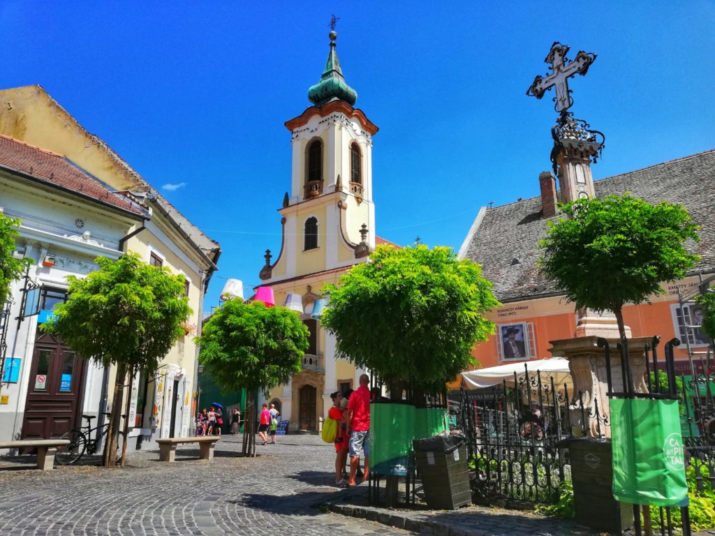
[[[613,497],[677,506],[688,495],[677,400],[611,399]]]

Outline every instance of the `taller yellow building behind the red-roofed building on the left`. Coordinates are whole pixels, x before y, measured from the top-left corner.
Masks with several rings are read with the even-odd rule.
[[[2,90],[0,97],[3,102],[0,134],[63,157],[110,190],[147,209],[148,217],[126,228],[119,241],[120,251],[137,252],[146,262],[167,266],[186,278],[193,311],[187,319],[187,337],[179,340],[164,357],[155,377],[135,378],[129,421],[134,427],[130,433],[134,438],[154,440],[188,435],[197,378],[193,334],[201,324],[204,293],[217,269],[219,244],[172,207],[102,139],[89,134],[41,86]],[[58,286],[61,292],[61,284]],[[112,392],[113,371],[109,371],[103,383],[103,392],[105,389]],[[101,419],[106,406],[100,406],[94,414],[99,413]],[[79,415],[74,415],[74,422],[79,424]]]

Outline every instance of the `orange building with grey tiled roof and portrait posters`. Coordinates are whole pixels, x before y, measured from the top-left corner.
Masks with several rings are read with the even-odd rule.
[[[550,174],[548,174],[550,175]],[[542,174],[546,177],[545,174]],[[573,304],[563,299],[556,284],[546,279],[538,269],[538,243],[546,236],[544,210],[554,206],[554,195],[561,200],[561,191],[542,182],[541,197],[523,199],[501,207],[483,207],[460,248],[460,258],[482,264],[483,274],[493,282],[493,292],[503,306],[493,312],[497,334],[489,342],[475,348],[475,357],[483,367],[506,361],[502,352],[501,334],[516,327],[526,342],[523,359],[551,357],[549,341],[573,337],[576,312]],[[544,187],[544,184],[547,187]],[[715,274],[715,150],[663,162],[593,182],[597,197],[631,192],[650,203],[668,201],[684,206],[693,221],[700,226],[700,242],[686,246],[701,259],[686,279],[664,282],[666,294],[651,297],[651,303],[630,305],[623,309],[626,324],[633,337],[661,335],[664,340],[679,337],[684,344],[676,349],[676,358],[684,359],[688,349],[704,349],[696,330],[684,326],[694,324],[693,304],[679,304],[697,292],[699,282]],[[548,214],[547,214],[548,215]],[[686,367],[681,367],[689,373]]]

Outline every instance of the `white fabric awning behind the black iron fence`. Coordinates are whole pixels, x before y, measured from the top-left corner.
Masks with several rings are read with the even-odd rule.
[[[530,377],[541,372],[541,381],[548,382],[553,378],[553,383],[558,387],[568,384],[571,390],[571,374],[568,371],[568,359],[563,357],[551,357],[551,359],[534,359],[518,363],[502,364],[498,367],[488,367],[486,369],[466,370],[462,372],[465,387],[468,389],[482,389],[492,385],[501,384],[506,381],[508,387],[514,386],[514,373],[517,379],[523,377],[528,372]]]

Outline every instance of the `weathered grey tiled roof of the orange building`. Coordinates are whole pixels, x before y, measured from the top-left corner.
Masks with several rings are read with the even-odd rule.
[[[715,150],[656,164],[595,181],[597,197],[631,192],[650,203],[668,201],[685,207],[700,226],[697,272],[715,272]],[[559,192],[560,193],[560,192]],[[501,302],[562,294],[536,267],[538,242],[546,237],[541,197],[488,209],[483,207],[460,250],[460,257],[482,264]]]

